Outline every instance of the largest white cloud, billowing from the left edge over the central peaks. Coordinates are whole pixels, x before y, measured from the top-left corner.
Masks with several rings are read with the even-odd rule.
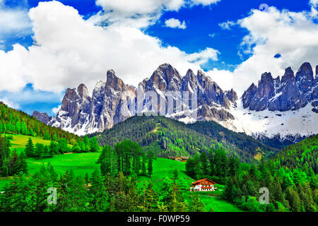
[[[59,93],[85,83],[92,92],[96,81],[106,80],[107,69],[138,85],[160,64],[170,63],[185,75],[187,69],[200,69],[202,62],[218,55],[211,48],[187,54],[177,47],[163,47],[156,37],[122,23],[93,25],[58,1],[40,2],[29,16],[36,44],[0,51],[0,90],[18,92],[33,83],[35,90]]]

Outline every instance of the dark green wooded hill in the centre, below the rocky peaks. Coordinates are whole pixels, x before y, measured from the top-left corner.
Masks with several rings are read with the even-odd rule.
[[[243,162],[253,162],[262,155],[271,156],[278,149],[264,145],[244,133],[235,133],[216,122],[184,124],[167,117],[131,117],[102,133],[93,133],[100,145],[114,146],[130,139],[143,150],[154,150],[158,157],[193,156],[211,148],[223,148],[228,155]]]

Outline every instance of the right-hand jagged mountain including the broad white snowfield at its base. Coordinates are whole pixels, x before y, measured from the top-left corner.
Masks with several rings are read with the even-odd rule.
[[[296,143],[318,133],[318,66],[314,77],[310,63],[297,73],[288,67],[281,77],[263,73],[231,107],[235,120],[220,124],[265,143]],[[281,147],[280,147],[281,148]]]

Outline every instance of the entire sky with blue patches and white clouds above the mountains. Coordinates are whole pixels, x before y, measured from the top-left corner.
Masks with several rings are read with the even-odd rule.
[[[261,73],[318,64],[318,0],[0,0],[0,101],[57,113],[114,69],[137,86],[160,64],[202,69],[239,96]]]

